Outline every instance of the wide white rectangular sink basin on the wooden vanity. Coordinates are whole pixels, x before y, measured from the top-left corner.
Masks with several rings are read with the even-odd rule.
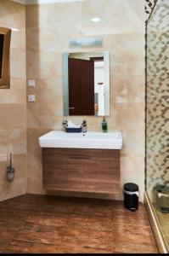
[[[50,131],[39,137],[41,148],[99,148],[121,149],[121,131],[66,133],[65,131]]]

